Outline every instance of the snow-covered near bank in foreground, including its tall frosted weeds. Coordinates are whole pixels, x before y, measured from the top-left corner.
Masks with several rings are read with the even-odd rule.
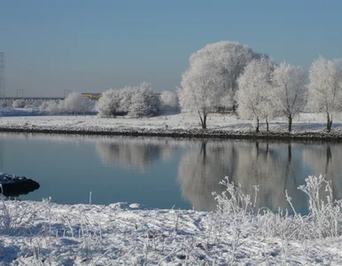
[[[0,265],[342,265],[340,203],[328,198],[308,216],[253,214],[253,197],[229,192],[210,213],[3,200]]]

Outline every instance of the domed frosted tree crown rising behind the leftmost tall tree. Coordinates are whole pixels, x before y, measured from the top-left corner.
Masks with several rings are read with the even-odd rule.
[[[190,66],[204,65],[218,78],[215,86],[222,89],[222,97],[216,103],[226,108],[236,108],[235,95],[238,90],[237,78],[243,73],[245,66],[252,59],[259,59],[260,54],[247,45],[237,42],[222,41],[209,43],[190,57]]]

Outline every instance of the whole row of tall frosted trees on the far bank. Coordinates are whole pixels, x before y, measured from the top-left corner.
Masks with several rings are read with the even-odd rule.
[[[276,65],[268,55],[233,42],[207,44],[190,56],[178,97],[183,112],[198,113],[202,129],[218,106],[260,120],[284,115],[291,131],[293,118],[308,107],[327,115],[330,132],[333,113],[342,111],[342,60],[315,59],[307,74],[300,66]]]

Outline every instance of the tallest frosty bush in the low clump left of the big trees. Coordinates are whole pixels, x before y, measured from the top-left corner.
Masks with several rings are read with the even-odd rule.
[[[159,98],[153,93],[151,84],[142,82],[133,90],[128,114],[134,117],[155,115],[159,110]]]

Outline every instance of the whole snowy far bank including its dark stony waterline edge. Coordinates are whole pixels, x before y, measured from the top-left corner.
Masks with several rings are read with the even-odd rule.
[[[338,139],[342,137],[342,116],[336,116],[330,133],[325,129],[323,113],[301,113],[287,132],[287,121],[276,118],[270,122],[270,132],[261,124],[254,133],[252,121],[238,120],[230,114],[211,114],[208,129],[200,129],[198,117],[190,114],[170,114],[152,118],[99,118],[97,116],[22,116],[2,117],[0,131],[71,133],[122,136],[215,137],[215,138],[277,138],[277,139]]]

